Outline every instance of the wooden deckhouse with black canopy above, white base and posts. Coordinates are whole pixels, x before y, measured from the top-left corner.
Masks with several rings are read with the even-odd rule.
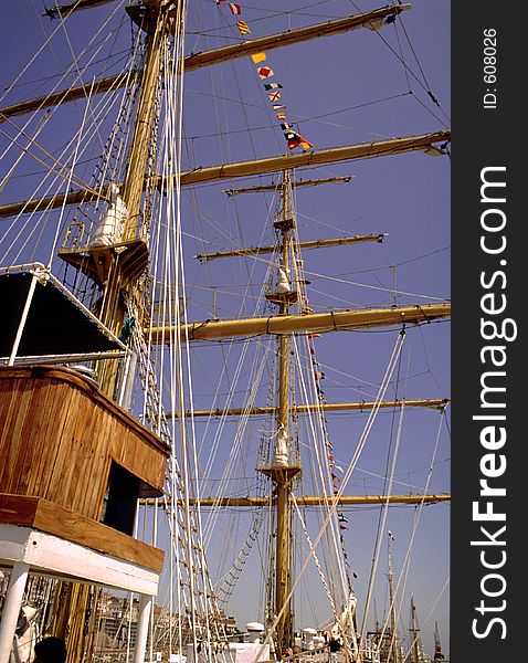
[[[12,303],[0,344],[10,357],[0,366],[0,565],[11,571],[0,661],[9,661],[31,573],[138,592],[142,661],[163,552],[133,537],[136,505],[161,495],[170,450],[93,378],[55,364],[127,350],[43,273],[0,275]],[[61,343],[53,329],[65,319]]]

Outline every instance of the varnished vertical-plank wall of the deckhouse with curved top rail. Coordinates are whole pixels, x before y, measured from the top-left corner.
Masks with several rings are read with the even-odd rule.
[[[112,460],[161,491],[168,448],[66,368],[0,367],[0,493],[99,519]]]

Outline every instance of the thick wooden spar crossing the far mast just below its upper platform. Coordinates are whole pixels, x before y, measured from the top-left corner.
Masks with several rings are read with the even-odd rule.
[[[166,344],[179,333],[182,340],[210,340],[256,336],[260,334],[319,333],[345,329],[387,327],[398,324],[429,323],[451,315],[451,304],[424,304],[423,306],[394,306],[362,311],[338,311],[307,315],[277,315],[244,318],[240,320],[204,320],[180,325],[178,328],[152,327],[146,329],[154,344]]]

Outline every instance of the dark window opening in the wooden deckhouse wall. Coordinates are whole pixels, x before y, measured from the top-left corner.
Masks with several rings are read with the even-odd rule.
[[[139,478],[113,462],[101,522],[131,536],[138,497]]]

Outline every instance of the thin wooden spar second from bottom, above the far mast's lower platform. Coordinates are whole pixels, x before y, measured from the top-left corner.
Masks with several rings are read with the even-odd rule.
[[[404,401],[360,401],[353,403],[310,403],[307,406],[292,406],[291,411],[296,413],[303,412],[342,412],[348,410],[373,410],[374,408],[429,408],[431,410],[443,410],[451,402],[448,398],[430,398]],[[225,408],[224,410],[188,410],[186,417],[251,417],[276,414],[278,408],[265,406],[262,408]],[[167,418],[171,418],[172,413],[168,412]],[[178,414],[176,414],[178,417]]]

